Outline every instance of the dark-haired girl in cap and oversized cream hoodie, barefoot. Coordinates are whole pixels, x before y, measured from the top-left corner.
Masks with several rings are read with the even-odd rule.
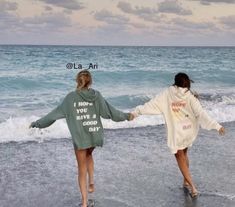
[[[189,171],[188,147],[196,139],[199,126],[216,129],[224,134],[224,127],[213,120],[202,108],[198,98],[190,91],[188,75],[178,73],[175,83],[142,106],[137,106],[133,114],[163,114],[167,125],[167,145],[175,154],[178,166],[184,177],[184,187],[190,187],[192,197],[198,195]]]

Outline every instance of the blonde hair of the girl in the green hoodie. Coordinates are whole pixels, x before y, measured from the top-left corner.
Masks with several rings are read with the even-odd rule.
[[[88,88],[92,84],[91,73],[88,70],[82,70],[76,77],[77,89]]]

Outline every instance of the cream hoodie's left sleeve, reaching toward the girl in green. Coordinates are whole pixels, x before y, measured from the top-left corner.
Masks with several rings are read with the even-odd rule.
[[[156,97],[152,98],[150,101],[144,105],[137,106],[133,111],[135,115],[155,115],[162,113],[162,103],[164,102],[164,92]]]

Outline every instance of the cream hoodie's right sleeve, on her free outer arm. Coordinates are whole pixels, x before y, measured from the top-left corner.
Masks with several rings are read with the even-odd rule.
[[[208,113],[202,108],[202,105],[199,100],[193,95],[191,97],[191,106],[195,116],[199,120],[200,126],[203,129],[216,129],[217,131],[219,131],[222,126],[208,115]]]

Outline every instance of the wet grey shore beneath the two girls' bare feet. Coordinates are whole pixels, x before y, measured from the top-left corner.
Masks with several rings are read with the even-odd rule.
[[[234,122],[227,134],[201,130],[189,151],[201,196],[184,193],[182,176],[166,145],[165,127],[106,130],[94,152],[97,207],[235,206]],[[75,207],[80,203],[70,139],[0,144],[1,207]]]

